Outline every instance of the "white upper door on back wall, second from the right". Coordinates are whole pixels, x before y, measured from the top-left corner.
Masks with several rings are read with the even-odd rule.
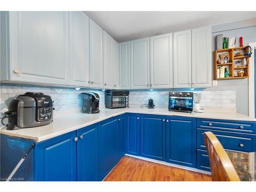
[[[174,33],[174,88],[191,87],[191,30]]]

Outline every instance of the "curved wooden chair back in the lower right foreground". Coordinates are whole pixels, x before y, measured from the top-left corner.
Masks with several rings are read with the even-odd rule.
[[[209,154],[212,181],[240,181],[227,153],[217,137],[204,132],[205,145]]]

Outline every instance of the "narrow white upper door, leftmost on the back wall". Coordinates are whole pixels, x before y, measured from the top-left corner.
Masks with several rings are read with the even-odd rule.
[[[130,89],[130,41],[121,42],[118,47],[120,89]]]

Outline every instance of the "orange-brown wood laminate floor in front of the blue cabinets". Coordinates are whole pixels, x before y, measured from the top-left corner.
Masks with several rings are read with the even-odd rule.
[[[104,181],[211,181],[211,176],[124,156]]]

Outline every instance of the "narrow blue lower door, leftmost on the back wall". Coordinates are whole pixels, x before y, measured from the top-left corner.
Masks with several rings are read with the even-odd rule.
[[[131,155],[140,155],[140,120],[139,114],[126,114],[125,152]]]

